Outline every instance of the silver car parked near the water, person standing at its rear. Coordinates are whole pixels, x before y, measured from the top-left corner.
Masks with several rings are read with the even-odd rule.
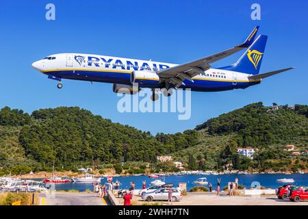
[[[141,197],[144,201],[168,201],[168,191],[169,188],[160,188],[158,190],[155,190],[154,192],[146,192],[142,194]],[[181,199],[182,194],[180,190],[177,188],[172,188],[172,201],[180,201]]]

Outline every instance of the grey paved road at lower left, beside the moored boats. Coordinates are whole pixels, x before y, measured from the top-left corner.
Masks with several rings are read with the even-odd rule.
[[[103,198],[94,194],[79,192],[55,192],[54,196],[40,194],[40,205],[107,205]]]

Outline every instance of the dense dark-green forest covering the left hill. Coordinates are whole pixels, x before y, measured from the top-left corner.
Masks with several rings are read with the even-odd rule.
[[[36,162],[36,168],[71,169],[76,164],[116,164],[118,162],[156,162],[166,155],[196,144],[198,131],[152,136],[127,125],[94,116],[79,107],[57,107],[34,111],[31,116],[21,110],[4,107],[0,125],[18,127],[19,144],[25,157]],[[8,133],[6,133],[8,134]],[[0,132],[0,138],[5,133]],[[1,141],[0,141],[1,144]],[[1,149],[1,148],[0,148]],[[4,166],[5,150],[0,162]]]

